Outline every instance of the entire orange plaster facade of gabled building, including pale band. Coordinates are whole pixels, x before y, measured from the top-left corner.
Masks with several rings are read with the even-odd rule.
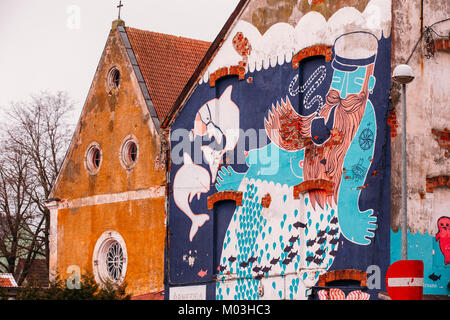
[[[121,72],[121,84],[108,91],[106,78],[114,66]],[[136,138],[138,158],[132,169],[125,169],[119,152],[130,134]],[[84,158],[93,141],[101,148],[102,162],[98,173],[90,175]],[[97,240],[103,232],[115,230],[128,251],[129,292],[163,289],[165,165],[160,149],[159,135],[113,28],[52,195],[61,199],[55,219],[55,263],[62,277],[68,276],[70,265],[92,272]]]

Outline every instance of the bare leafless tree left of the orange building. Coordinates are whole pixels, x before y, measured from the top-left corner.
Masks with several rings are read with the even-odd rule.
[[[36,257],[44,257],[48,266],[50,212],[43,200],[70,143],[72,110],[65,92],[42,92],[6,111],[0,145],[0,270],[13,273],[19,285]]]

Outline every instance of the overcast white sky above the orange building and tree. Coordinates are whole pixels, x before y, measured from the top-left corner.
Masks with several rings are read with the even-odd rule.
[[[116,0],[0,0],[0,107],[42,90],[83,107]],[[213,41],[239,0],[122,0],[125,24]]]

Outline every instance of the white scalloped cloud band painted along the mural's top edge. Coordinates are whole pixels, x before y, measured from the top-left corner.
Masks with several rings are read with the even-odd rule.
[[[242,32],[252,46],[248,56],[248,71],[267,69],[269,65],[290,62],[298,51],[316,44],[333,45],[340,35],[352,31],[368,31],[378,39],[389,37],[391,32],[391,1],[372,0],[363,12],[353,7],[344,7],[336,11],[328,21],[316,11],[302,16],[297,25],[280,22],[271,26],[264,35],[243,20],[239,20],[228,39],[208,66],[203,78],[207,82],[209,74],[222,67],[238,65],[242,57],[233,47],[233,36]]]

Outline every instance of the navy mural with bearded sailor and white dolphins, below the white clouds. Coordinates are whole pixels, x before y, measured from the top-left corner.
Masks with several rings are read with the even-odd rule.
[[[245,79],[202,82],[172,125],[169,285],[206,283],[209,299],[307,299],[329,270],[387,269],[390,39],[344,29],[259,65],[255,28],[231,35],[251,48],[233,46]],[[208,210],[218,192],[242,202]]]

